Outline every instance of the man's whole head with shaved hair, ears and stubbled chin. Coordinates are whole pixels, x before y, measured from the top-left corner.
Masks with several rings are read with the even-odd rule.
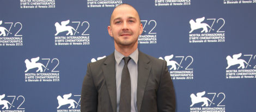
[[[134,46],[138,44],[138,36],[143,27],[139,15],[129,5],[121,5],[114,9],[108,34],[114,38],[118,46]]]

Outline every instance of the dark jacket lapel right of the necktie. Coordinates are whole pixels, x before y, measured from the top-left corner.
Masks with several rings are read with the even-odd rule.
[[[149,58],[139,51],[138,55],[138,85],[137,85],[137,108],[141,110],[142,99],[144,96],[145,86],[149,78],[151,64]]]

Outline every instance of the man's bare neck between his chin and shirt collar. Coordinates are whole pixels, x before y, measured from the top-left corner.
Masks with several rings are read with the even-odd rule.
[[[128,57],[131,53],[133,53],[137,49],[137,47],[138,47],[138,43],[135,43],[135,45],[131,45],[131,46],[122,46],[122,45],[117,45],[117,43],[115,43],[115,50],[123,54],[125,57]]]

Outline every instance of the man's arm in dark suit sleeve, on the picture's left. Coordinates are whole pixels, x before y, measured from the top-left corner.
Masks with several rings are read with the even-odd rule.
[[[81,92],[81,112],[97,111],[97,90],[94,85],[90,64],[87,65]]]

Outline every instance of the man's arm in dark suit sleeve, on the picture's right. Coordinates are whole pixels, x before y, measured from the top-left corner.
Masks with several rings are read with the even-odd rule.
[[[160,85],[157,90],[158,112],[175,112],[176,101],[172,78],[168,72],[166,61],[163,60]]]

